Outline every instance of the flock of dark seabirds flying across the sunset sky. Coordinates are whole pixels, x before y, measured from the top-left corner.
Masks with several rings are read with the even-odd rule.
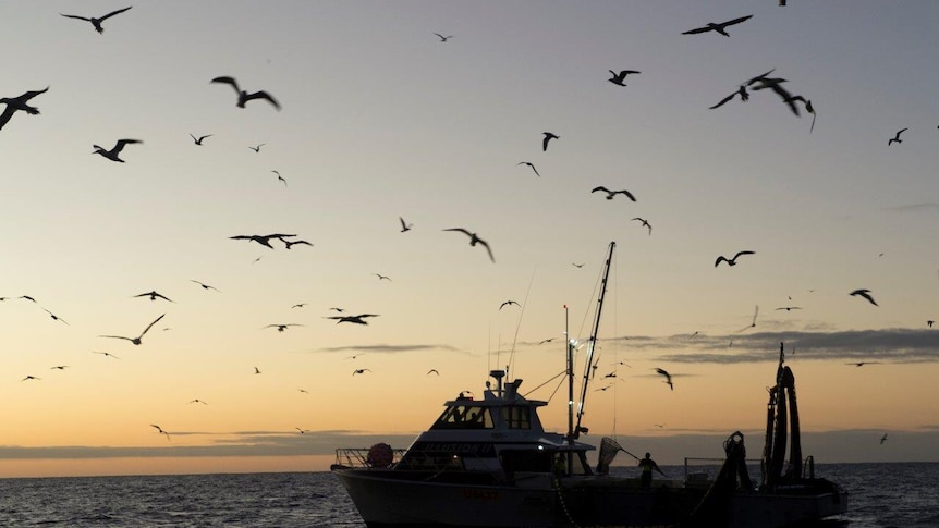
[[[121,13],[125,13],[130,9],[132,9],[132,8],[127,7],[127,8],[119,9],[119,10],[109,12],[102,16],[97,16],[97,17],[96,16],[75,15],[75,14],[64,14],[64,13],[60,13],[60,14],[61,14],[61,16],[64,16],[64,17],[89,22],[92,24],[93,28],[97,33],[102,34],[105,30],[105,28],[102,26],[105,21],[108,21],[111,17],[119,15]],[[698,35],[698,34],[706,34],[706,33],[716,33],[716,34],[722,35],[724,37],[730,37],[730,34],[728,33],[728,29],[730,27],[736,26],[739,24],[743,24],[743,23],[747,22],[748,20],[751,20],[752,17],[753,17],[753,15],[746,15],[746,16],[740,16],[740,17],[731,19],[731,20],[728,20],[724,22],[719,22],[719,23],[707,23],[704,26],[695,27],[695,28],[685,30],[682,33],[682,35]],[[453,38],[452,35],[444,36],[444,35],[439,34],[439,33],[434,33],[434,35],[436,35],[439,38],[440,42],[448,42],[450,39]],[[781,99],[781,101],[790,109],[790,111],[793,114],[795,114],[796,116],[801,115],[801,110],[804,110],[805,112],[812,114],[812,124],[809,127],[809,133],[813,132],[815,128],[815,119],[817,116],[816,115],[816,109],[815,109],[815,106],[813,105],[813,101],[810,99],[802,96],[802,95],[793,95],[790,90],[788,90],[785,88],[785,83],[788,83],[788,81],[785,78],[782,78],[782,77],[771,76],[773,74],[773,72],[775,72],[775,69],[769,70],[765,73],[761,73],[759,75],[753,76],[753,77],[744,81],[743,83],[739,84],[737,87],[733,91],[730,93],[730,95],[721,98],[717,103],[712,105],[709,108],[710,109],[721,108],[722,106],[727,105],[728,102],[732,101],[735,98],[740,99],[741,102],[746,102],[751,98],[751,93],[769,90],[771,93],[775,93]],[[620,86],[620,87],[626,87],[627,86],[626,79],[627,78],[634,78],[631,76],[641,75],[642,72],[639,72],[637,70],[620,69],[620,70],[609,70],[609,73],[611,75],[611,77],[608,79],[609,83],[617,85],[617,86]],[[235,93],[235,105],[237,108],[245,108],[246,105],[248,102],[252,102],[252,101],[267,101],[267,103],[269,103],[273,109],[276,109],[278,111],[280,111],[282,109],[280,102],[270,93],[268,93],[266,90],[248,91],[248,90],[242,89],[239,82],[232,76],[217,76],[217,77],[211,78],[209,81],[209,83],[230,86]],[[3,128],[5,125],[8,125],[8,123],[14,118],[14,115],[16,115],[17,112],[22,112],[22,113],[27,114],[27,115],[38,115],[40,113],[39,109],[36,106],[34,106],[34,103],[32,101],[36,97],[46,94],[48,90],[49,90],[49,87],[47,86],[47,87],[45,87],[42,89],[38,89],[38,90],[27,90],[27,91],[23,93],[20,96],[16,96],[16,97],[0,98],[0,103],[5,106],[2,114],[0,114],[0,128]],[[898,131],[893,137],[889,138],[888,146],[892,146],[894,143],[901,144],[902,143],[901,134],[903,134],[906,131],[907,131],[907,128],[902,128],[902,130]],[[196,135],[196,134],[190,133],[190,136],[191,136],[195,146],[203,146],[204,142],[206,139],[212,137],[212,134]],[[541,150],[547,152],[549,146],[553,144],[552,142],[558,142],[558,140],[560,140],[560,138],[561,138],[561,136],[559,134],[556,134],[553,132],[544,132],[541,135]],[[110,161],[113,161],[113,162],[124,163],[125,160],[121,158],[121,155],[122,155],[122,152],[124,152],[125,147],[127,147],[129,145],[141,145],[141,144],[143,144],[143,140],[141,140],[141,139],[120,138],[120,139],[117,139],[115,143],[113,144],[113,146],[110,148],[105,148],[105,147],[101,147],[99,145],[93,145],[93,148],[94,148],[93,154],[99,155],[99,156],[101,156],[101,157],[103,157]],[[257,144],[255,146],[249,146],[248,148],[251,148],[255,152],[260,152],[261,147],[265,145],[266,144],[261,143],[261,144]],[[541,177],[541,174],[539,173],[539,171],[536,168],[534,162],[532,162],[532,161],[520,161],[520,162],[517,162],[517,165],[525,165],[532,170],[532,172],[535,174],[535,176]],[[279,182],[281,182],[283,185],[288,184],[286,180],[280,174],[280,172],[278,172],[276,170],[271,171],[271,172],[277,176],[277,180]],[[606,186],[598,185],[598,186],[593,187],[590,193],[592,194],[601,193],[601,196],[603,196],[607,200],[613,200],[618,196],[623,196],[632,202],[637,201],[636,196],[631,191],[624,189],[624,188],[611,189],[611,188],[608,188]],[[642,217],[634,217],[631,219],[631,221],[639,222],[641,226],[647,230],[648,235],[653,234],[653,225],[649,222],[649,220],[642,218]],[[406,232],[411,231],[414,226],[413,223],[405,221],[405,219],[403,217],[399,217],[399,222],[400,222],[400,232],[401,233],[406,233]],[[487,241],[485,241],[484,238],[481,238],[476,232],[474,232],[470,229],[465,229],[465,228],[448,228],[448,229],[443,229],[442,231],[462,233],[464,236],[466,236],[468,238],[468,245],[471,247],[480,247],[480,248],[485,249],[490,261],[493,263],[496,262],[496,258],[493,256],[493,251],[492,251],[492,248],[490,247],[490,244]],[[282,244],[282,247],[285,249],[291,249],[295,245],[313,246],[313,244],[310,242],[308,242],[306,240],[302,240],[302,238],[296,238],[297,236],[298,236],[297,234],[272,233],[272,234],[242,234],[242,235],[233,235],[233,236],[230,236],[229,238],[236,240],[236,241],[247,241],[249,243],[253,242],[253,243],[256,243],[258,245],[261,245],[261,246],[270,248],[270,249],[275,248],[275,245],[273,245],[275,242]],[[719,267],[719,265],[721,262],[725,263],[727,267],[734,267],[739,263],[740,257],[752,256],[752,255],[756,255],[756,251],[754,251],[754,250],[739,250],[732,257],[727,257],[724,255],[720,255],[715,260],[714,267],[715,268]],[[583,267],[584,265],[583,263],[573,263],[573,266],[580,268],[580,267]],[[380,273],[375,273],[375,275],[378,277],[379,281],[391,281],[391,279],[388,275],[383,275]],[[203,282],[199,282],[196,280],[192,280],[192,282],[198,284],[204,290],[218,291],[214,286],[205,284]],[[857,288],[857,290],[850,292],[850,295],[866,299],[873,306],[879,306],[878,303],[875,300],[870,290]],[[156,290],[151,290],[149,292],[144,292],[144,293],[134,295],[133,297],[143,297],[143,298],[147,298],[147,299],[153,300],[153,302],[160,299],[160,300],[168,302],[168,303],[174,303],[172,299],[158,293]],[[19,298],[32,300],[35,303],[35,299],[32,298],[31,296],[27,296],[27,295],[21,296]],[[7,300],[7,299],[8,299],[8,297],[0,297],[0,302]],[[293,306],[293,308],[301,308],[305,304],[296,304]],[[503,308],[511,307],[511,306],[520,307],[521,305],[515,300],[505,300],[504,303],[502,303],[499,306],[499,310],[502,310]],[[68,322],[65,320],[59,318],[57,315],[54,315],[49,309],[47,309],[45,307],[42,309],[46,312],[48,312],[48,315],[52,319],[68,324]],[[336,308],[336,307],[330,308],[330,309],[337,311],[339,315],[326,316],[325,319],[334,320],[337,324],[350,323],[350,324],[367,326],[371,318],[380,317],[378,314],[369,314],[369,312],[349,315],[349,314],[344,314],[344,311],[345,311],[344,309]],[[776,309],[777,310],[791,311],[791,310],[801,310],[802,307],[783,306],[783,307],[779,307]],[[757,317],[758,310],[759,310],[759,308],[757,307],[755,310],[755,314],[754,314],[753,323],[748,327],[745,327],[745,329],[756,326],[756,317]],[[101,335],[99,335],[99,337],[123,340],[123,341],[130,342],[131,344],[133,344],[135,346],[138,346],[138,345],[143,344],[144,336],[147,335],[147,333],[158,322],[160,322],[164,317],[166,317],[166,314],[160,315],[155,320],[149,322],[143,329],[143,331],[141,331],[141,333],[138,335],[135,335],[135,336],[101,334]],[[931,328],[934,321],[929,320],[927,322],[928,322],[928,326]],[[303,326],[304,324],[302,324],[302,323],[270,323],[270,324],[266,324],[266,326],[261,327],[261,329],[276,329],[277,332],[284,332],[289,328],[303,327]],[[541,341],[541,343],[547,343],[547,342],[550,342],[553,339],[544,340],[544,341]],[[106,357],[111,357],[111,358],[115,358],[115,359],[119,358],[118,356],[114,356],[113,354],[110,354],[108,352],[94,351],[94,353],[95,354],[101,354]],[[356,356],[350,356],[350,357],[354,359]],[[857,363],[850,363],[849,365],[862,367],[864,365],[877,364],[877,363],[879,363],[879,361],[857,361]],[[63,370],[63,369],[68,368],[68,366],[57,365],[57,366],[53,366],[51,368],[58,369],[58,370]],[[654,370],[656,371],[656,376],[662,377],[663,383],[668,384],[669,389],[671,391],[674,391],[674,383],[673,383],[672,378],[673,378],[673,376],[679,376],[679,374],[672,374],[668,370],[666,370],[663,368],[659,368],[659,367],[656,367]],[[366,372],[371,372],[371,370],[368,368],[355,368],[352,371],[352,376],[353,377],[362,376],[362,374],[365,374]],[[254,373],[260,374],[261,371],[257,367],[254,367]],[[437,374],[437,376],[440,374],[440,372],[437,369],[430,369],[427,371],[428,376],[431,373]],[[615,372],[611,372],[610,374],[607,374],[606,378],[615,378]],[[24,378],[22,378],[22,381],[37,381],[40,379],[41,378],[39,378],[37,376],[27,374]],[[608,389],[608,386],[601,388],[598,390],[606,390],[606,389]],[[300,389],[300,391],[306,392],[304,389]],[[197,403],[197,404],[207,405],[207,403],[205,401],[202,401],[199,398],[194,398],[190,403]],[[151,423],[150,427],[153,427],[158,434],[166,435],[167,440],[170,439],[170,433],[168,431],[166,431],[163,428],[161,428],[160,426],[158,426],[156,423]],[[662,427],[662,426],[657,425],[657,427]],[[309,432],[308,429],[303,429],[303,428],[296,428],[296,430],[298,430],[301,434]],[[887,439],[887,435],[885,434],[880,439],[880,443],[883,443],[886,441],[886,439]]]

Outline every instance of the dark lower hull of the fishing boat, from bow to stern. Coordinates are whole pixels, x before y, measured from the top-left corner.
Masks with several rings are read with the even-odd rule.
[[[847,507],[846,493],[833,486],[733,493],[692,515],[707,489],[674,481],[643,489],[638,479],[605,476],[554,480],[550,474],[535,474],[511,484],[479,484],[390,469],[334,467],[333,472],[369,528],[782,528],[842,514]]]

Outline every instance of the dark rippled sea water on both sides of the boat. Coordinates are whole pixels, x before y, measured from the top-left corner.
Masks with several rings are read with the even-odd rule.
[[[816,475],[839,482],[850,493],[847,515],[826,526],[939,527],[939,463],[817,465]],[[336,477],[297,472],[0,479],[0,526],[365,524]]]

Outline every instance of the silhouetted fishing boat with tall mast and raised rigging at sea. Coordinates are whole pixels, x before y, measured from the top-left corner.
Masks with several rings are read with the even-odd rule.
[[[538,409],[547,402],[526,398],[519,392],[521,379],[492,370],[481,398],[461,393],[446,402],[443,413],[406,450],[385,443],[337,449],[331,470],[369,528],[782,528],[846,512],[847,493],[816,478],[813,457],[803,461],[795,382],[783,365],[782,344],[758,484],[747,470],[739,431],[724,442],[727,458],[712,477],[685,471],[683,479],[646,484],[610,475],[610,463],[625,451],[611,438],[602,439],[596,464],[589,463],[597,450],[580,440],[587,432],[581,418],[614,247],[611,243],[576,413],[575,343],[566,345],[566,433],[546,431]]]

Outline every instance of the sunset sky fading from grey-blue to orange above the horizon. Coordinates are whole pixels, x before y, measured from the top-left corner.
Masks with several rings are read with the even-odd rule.
[[[805,454],[939,461],[939,5],[788,3],[4,4],[0,477],[325,470],[507,366],[563,432],[611,242],[583,440],[758,456],[784,343]],[[770,70],[814,116],[709,108]]]

